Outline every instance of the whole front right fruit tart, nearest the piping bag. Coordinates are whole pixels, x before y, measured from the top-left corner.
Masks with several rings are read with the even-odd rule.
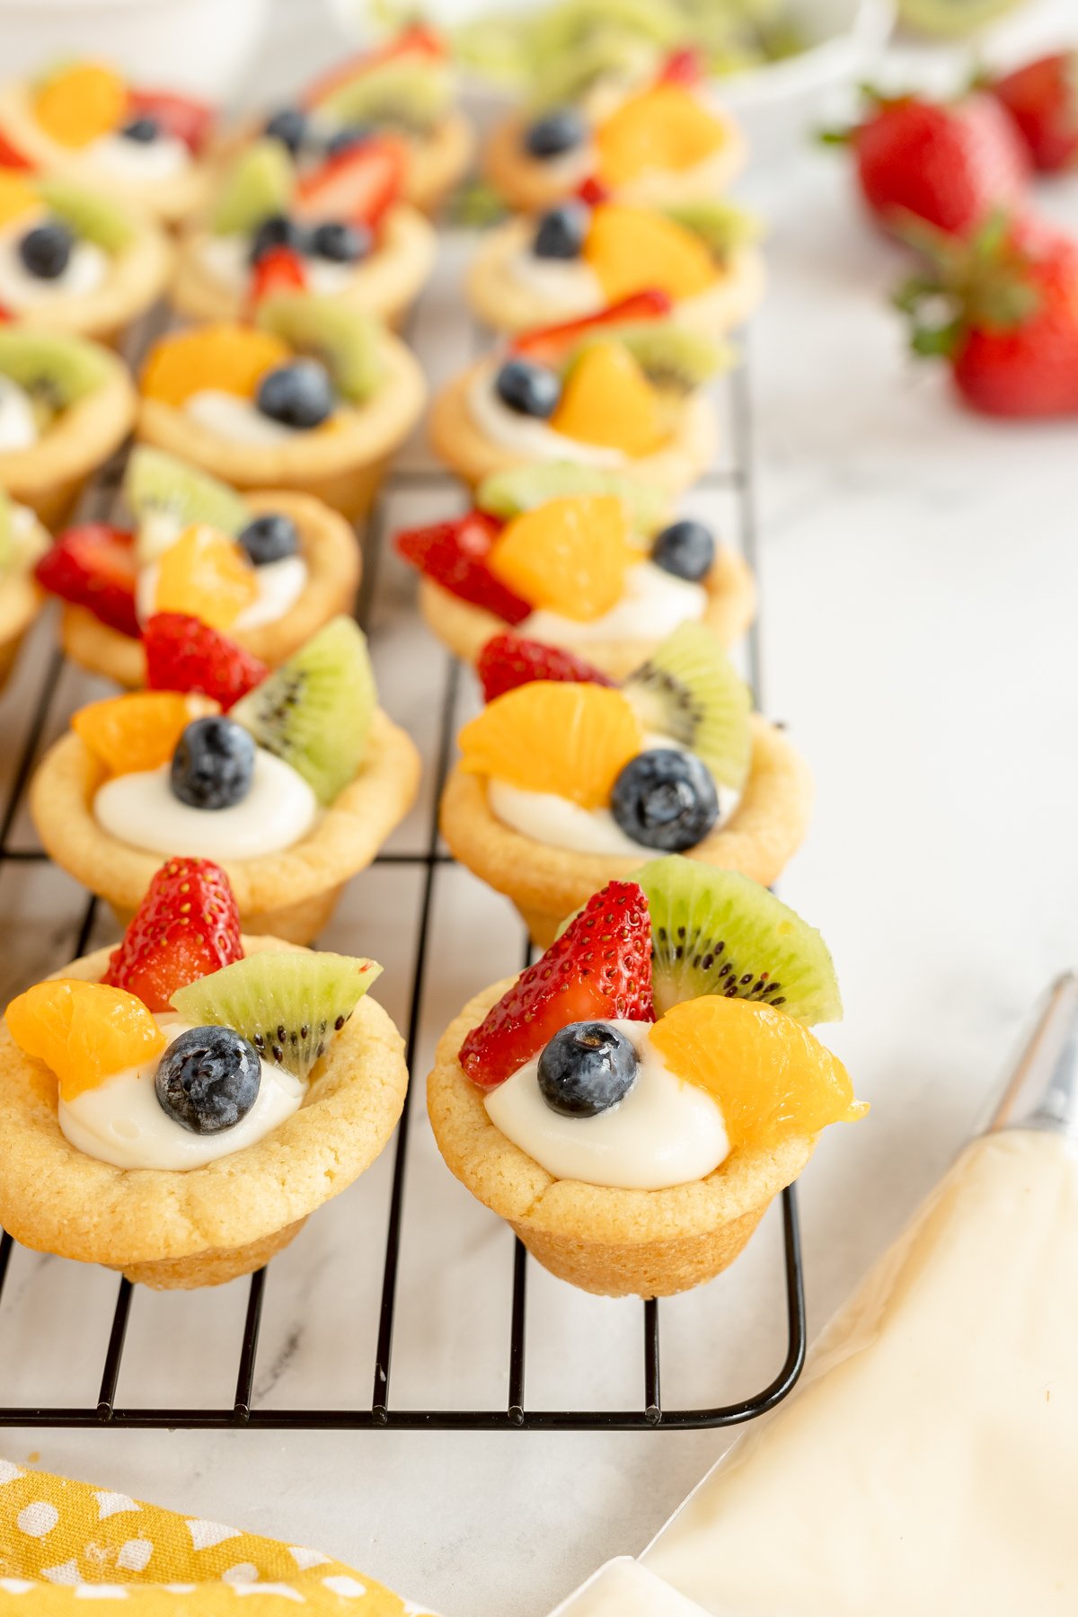
[[[794,910],[659,859],[464,1007],[427,1085],[435,1138],[559,1279],[669,1297],[737,1258],[821,1129],[868,1111],[805,1025],[840,1014]]]

